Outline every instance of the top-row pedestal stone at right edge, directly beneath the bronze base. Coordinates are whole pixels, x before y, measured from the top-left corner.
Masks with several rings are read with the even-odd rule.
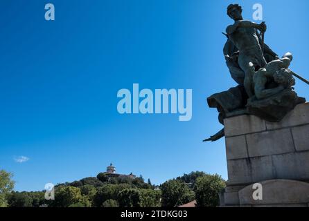
[[[309,124],[309,103],[297,105],[281,122],[266,122],[267,130]]]

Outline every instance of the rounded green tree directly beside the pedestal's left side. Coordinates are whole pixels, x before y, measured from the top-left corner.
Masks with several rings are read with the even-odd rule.
[[[194,191],[197,206],[209,207],[219,205],[219,193],[224,189],[225,182],[218,174],[197,177]]]

